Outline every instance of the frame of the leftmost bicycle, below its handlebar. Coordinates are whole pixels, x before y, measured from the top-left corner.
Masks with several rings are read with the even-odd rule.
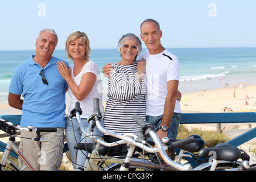
[[[15,169],[15,171],[23,171],[26,168],[30,169],[31,171],[35,171],[35,168],[30,164],[30,162],[28,162],[26,157],[22,154],[22,152],[19,150],[14,142],[15,135],[11,135],[6,145],[5,152],[3,152],[3,158],[1,160],[1,170],[5,171],[6,164],[9,164],[12,168]],[[16,166],[16,164],[9,158],[11,150],[13,150],[19,156],[19,158],[22,159],[24,164],[26,164],[23,168],[19,168],[18,166]]]

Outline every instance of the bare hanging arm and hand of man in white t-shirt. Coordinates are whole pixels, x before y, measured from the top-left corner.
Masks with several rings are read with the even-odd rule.
[[[179,81],[177,80],[170,80],[167,82],[167,89],[168,94],[166,97],[166,101],[164,103],[164,114],[162,118],[162,122],[160,126],[169,127],[172,115],[174,114],[174,107],[177,98],[177,88],[179,85]],[[162,140],[163,137],[167,137],[167,132],[158,130],[157,131],[158,137]]]

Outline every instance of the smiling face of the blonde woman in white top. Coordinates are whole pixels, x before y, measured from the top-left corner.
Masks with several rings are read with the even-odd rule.
[[[76,38],[71,41],[68,48],[68,53],[72,59],[84,59],[86,52],[86,43],[84,39]]]

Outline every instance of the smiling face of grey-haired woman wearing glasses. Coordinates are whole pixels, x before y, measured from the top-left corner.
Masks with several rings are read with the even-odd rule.
[[[128,45],[129,48],[124,49],[121,47],[121,55],[123,61],[128,61],[129,63],[133,63],[135,60],[135,57],[138,56],[138,50],[133,51],[131,49],[131,46],[138,46],[138,42],[135,39],[125,39],[123,41],[123,45]]]

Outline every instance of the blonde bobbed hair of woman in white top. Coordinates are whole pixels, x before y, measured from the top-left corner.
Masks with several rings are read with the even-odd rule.
[[[76,31],[76,32],[73,32],[72,34],[70,34],[67,38],[67,41],[66,41],[66,48],[65,48],[65,53],[67,54],[67,57],[68,59],[72,59],[71,55],[69,55],[69,44],[77,39],[77,38],[80,38],[80,40],[84,40],[86,46],[85,46],[85,58],[87,60],[89,60],[89,55],[90,55],[90,52],[91,52],[91,49],[90,49],[90,42],[89,42],[89,39],[88,39],[88,36],[84,33],[84,32],[80,32],[80,31]]]

